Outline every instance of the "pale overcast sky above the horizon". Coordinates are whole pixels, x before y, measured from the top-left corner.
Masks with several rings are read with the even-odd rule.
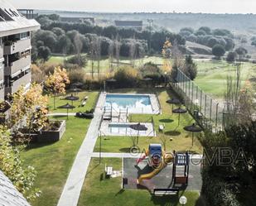
[[[17,8],[82,12],[256,13],[256,0],[7,0]]]

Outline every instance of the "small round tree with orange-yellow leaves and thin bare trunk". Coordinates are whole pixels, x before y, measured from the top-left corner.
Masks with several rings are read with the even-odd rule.
[[[66,84],[70,84],[70,79],[65,69],[61,69],[60,66],[54,69],[53,74],[47,76],[45,82],[46,91],[53,94],[54,102],[53,107],[56,109],[56,95],[65,93]]]

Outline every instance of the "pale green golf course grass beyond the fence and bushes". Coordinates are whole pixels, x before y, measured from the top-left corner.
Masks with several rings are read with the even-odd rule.
[[[64,58],[62,56],[52,56],[47,62],[48,64],[60,64],[63,63]],[[152,61],[154,64],[162,65],[163,59],[158,56],[146,56],[143,59],[135,60],[135,65],[139,67],[147,62]],[[227,74],[231,72],[234,74],[235,66],[229,64],[226,61],[220,60],[195,60],[198,66],[198,75],[195,79],[196,84],[214,98],[223,98],[226,89],[226,77]],[[87,74],[91,74],[91,60],[84,68]],[[121,58],[120,64],[129,64],[130,60],[128,58]],[[109,59],[105,58],[100,60],[99,73],[107,74],[109,69]],[[94,61],[94,74],[98,72],[98,62]],[[243,63],[241,67],[241,79],[242,84],[245,80],[256,76],[256,65],[252,63]]]

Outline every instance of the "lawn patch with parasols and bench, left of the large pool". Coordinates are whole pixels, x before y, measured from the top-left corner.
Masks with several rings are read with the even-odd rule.
[[[71,93],[67,92],[65,95],[61,95],[59,97],[56,97],[56,109],[54,108],[54,98],[51,97],[49,101],[48,107],[50,108],[51,113],[66,113],[66,109],[63,108],[58,108],[59,106],[70,103],[72,104],[71,101],[65,100],[64,98],[66,96],[69,96]],[[94,108],[95,101],[99,95],[99,92],[94,91],[94,92],[88,92],[88,91],[83,91],[80,93],[74,94],[75,96],[80,97],[79,100],[73,101],[73,105],[75,106],[74,109],[70,109],[69,113],[77,113],[77,112],[85,112],[86,110],[89,110],[91,108]],[[81,105],[81,101],[83,98],[88,97],[88,100],[86,101],[85,107],[79,107]]]

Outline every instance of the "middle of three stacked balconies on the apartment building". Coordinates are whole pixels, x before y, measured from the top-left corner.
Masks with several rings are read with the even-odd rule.
[[[4,75],[13,75],[27,69],[31,65],[31,55],[27,55],[20,60],[13,61],[9,66],[4,69]]]

